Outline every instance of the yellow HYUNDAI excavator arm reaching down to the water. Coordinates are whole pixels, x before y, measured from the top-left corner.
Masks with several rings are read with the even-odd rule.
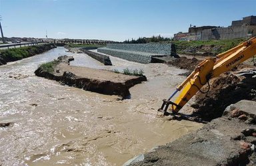
[[[208,84],[211,78],[217,77],[223,72],[231,70],[241,62],[253,57],[256,54],[256,37],[242,42],[238,46],[227,50],[221,54],[218,54],[215,58],[206,58],[200,64],[195,67],[195,70],[182,82],[175,90],[175,92],[169,97],[164,99],[160,112],[164,115],[170,114],[167,112],[169,105],[171,105],[171,114],[177,114],[179,110],[198,92],[202,92],[201,88]],[[171,102],[171,99],[177,92],[180,92],[175,102]],[[207,92],[209,89],[207,90]],[[204,92],[206,93],[206,92]]]

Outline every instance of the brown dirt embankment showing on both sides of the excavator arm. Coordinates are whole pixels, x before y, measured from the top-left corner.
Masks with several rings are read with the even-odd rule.
[[[199,62],[201,61],[196,58],[189,59],[182,56],[181,58],[172,58],[167,64],[189,70],[189,72],[182,74],[188,76]],[[207,94],[201,92],[196,94],[195,102],[191,105],[194,108],[192,116],[209,122],[221,117],[225,108],[230,104],[240,100],[256,101],[256,77],[249,74],[249,70],[255,72],[256,67],[249,64],[239,64],[231,72],[211,79],[209,92],[207,92],[208,86],[204,86],[201,91],[207,92]]]

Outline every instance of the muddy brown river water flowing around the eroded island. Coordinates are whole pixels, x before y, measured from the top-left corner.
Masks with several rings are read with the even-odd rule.
[[[71,65],[122,70],[142,68],[148,81],[120,100],[63,86],[35,76],[37,66],[58,56],[73,55]],[[58,47],[43,54],[0,66],[0,165],[122,165],[201,127],[187,121],[157,118],[186,72],[165,64],[139,64],[111,57],[103,66],[86,54]]]

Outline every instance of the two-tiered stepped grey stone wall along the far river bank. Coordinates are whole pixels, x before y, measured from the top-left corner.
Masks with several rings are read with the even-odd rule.
[[[150,63],[153,56],[167,56],[171,54],[171,43],[147,44],[107,44],[107,47],[97,49],[98,52],[110,54],[125,60]]]

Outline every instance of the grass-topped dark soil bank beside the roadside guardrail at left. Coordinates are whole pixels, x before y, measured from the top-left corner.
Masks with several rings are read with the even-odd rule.
[[[47,50],[56,48],[55,44],[39,44],[35,46],[25,46],[21,48],[10,48],[0,51],[0,65],[7,64],[7,62],[13,62],[16,60],[21,60],[35,54],[41,54]]]

